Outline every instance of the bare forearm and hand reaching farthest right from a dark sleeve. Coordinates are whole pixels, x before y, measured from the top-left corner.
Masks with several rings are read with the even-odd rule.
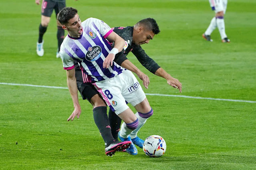
[[[169,75],[164,69],[162,69],[160,67],[159,69],[157,69],[157,71],[155,71],[155,75],[158,75],[159,77],[163,77],[164,79],[166,79],[167,83],[169,85],[171,85],[174,88],[179,89],[179,92],[181,93],[181,86],[182,85],[179,82],[179,80],[171,77],[171,75]]]

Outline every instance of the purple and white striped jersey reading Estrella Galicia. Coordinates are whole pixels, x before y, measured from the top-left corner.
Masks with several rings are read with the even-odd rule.
[[[111,50],[105,39],[113,30],[103,21],[88,18],[82,22],[83,34],[79,38],[66,36],[60,46],[64,69],[73,69],[74,60],[81,63],[84,73],[91,75],[92,83],[114,77],[123,71],[123,67],[113,62],[103,69],[103,61]]]

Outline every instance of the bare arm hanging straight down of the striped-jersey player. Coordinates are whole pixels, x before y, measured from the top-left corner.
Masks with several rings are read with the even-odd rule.
[[[67,85],[69,87],[69,93],[71,95],[74,108],[75,108],[67,121],[69,121],[70,119],[72,119],[73,121],[76,116],[77,118],[79,118],[81,114],[81,107],[78,101],[77,79],[75,77],[75,68],[67,70]]]

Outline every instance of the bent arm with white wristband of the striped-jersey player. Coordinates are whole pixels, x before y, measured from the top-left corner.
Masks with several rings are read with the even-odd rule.
[[[125,40],[117,35],[115,32],[111,32],[109,36],[107,36],[107,40],[109,42],[115,42],[114,47],[109,52],[109,55],[105,58],[103,62],[103,68],[108,68],[109,65],[113,65],[113,61],[115,59],[115,55],[123,50],[125,46]]]

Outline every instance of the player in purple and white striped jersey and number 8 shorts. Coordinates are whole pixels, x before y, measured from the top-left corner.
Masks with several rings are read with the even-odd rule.
[[[74,68],[74,62],[78,61],[83,72],[91,76],[93,85],[111,110],[115,111],[126,123],[123,136],[127,140],[115,142],[113,136],[112,138],[103,136],[106,143],[106,154],[112,155],[115,151],[123,150],[131,144],[127,148],[127,150],[129,149],[127,152],[136,155],[137,148],[131,142],[129,134],[138,127],[139,121],[127,106],[126,101],[131,103],[143,117],[150,117],[153,110],[131,71],[123,69],[113,62],[115,54],[124,48],[125,41],[101,20],[89,18],[81,23],[77,10],[74,8],[63,8],[57,19],[62,24],[62,28],[68,31],[68,36],[60,47],[63,67],[67,70],[67,84],[75,108],[68,121],[73,120],[76,116],[78,118],[81,114]],[[115,42],[112,49],[109,42]],[[98,117],[95,123],[96,125],[99,123],[108,125],[109,123],[104,122],[104,120]],[[111,134],[110,126],[107,127],[109,127]],[[102,129],[99,128],[99,130],[101,132]]]

